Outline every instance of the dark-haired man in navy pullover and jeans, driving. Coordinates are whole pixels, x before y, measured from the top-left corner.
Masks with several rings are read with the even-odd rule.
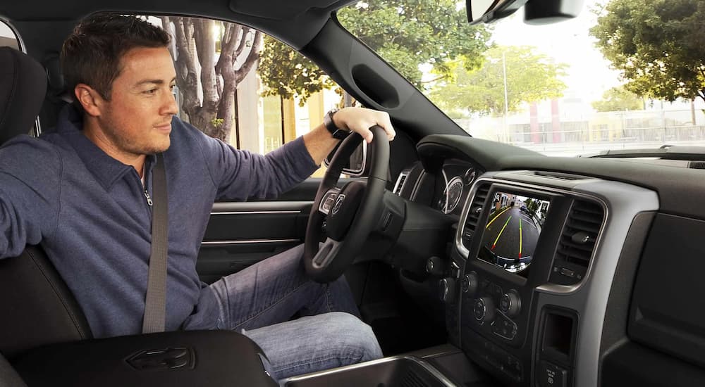
[[[198,248],[217,198],[273,197],[298,184],[338,143],[319,125],[258,156],[178,120],[169,37],[137,18],[83,20],[64,43],[75,96],[56,129],[0,148],[0,258],[41,243],[96,337],[139,334],[151,246],[152,168],[164,154],[168,186],[166,329],[238,329],[277,378],[381,357],[344,279],[305,277],[302,248],[202,284]],[[332,124],[372,140],[394,131],[386,113],[345,108]],[[27,168],[32,160],[33,168]],[[289,321],[294,315],[304,317]]]

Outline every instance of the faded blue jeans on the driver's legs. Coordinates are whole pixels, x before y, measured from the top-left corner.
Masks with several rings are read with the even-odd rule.
[[[218,328],[252,338],[275,379],[382,357],[345,278],[329,284],[308,279],[302,256],[297,246],[212,284]],[[295,315],[301,317],[290,320]]]

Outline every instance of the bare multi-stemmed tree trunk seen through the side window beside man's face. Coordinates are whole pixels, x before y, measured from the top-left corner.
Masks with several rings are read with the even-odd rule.
[[[238,84],[255,68],[262,32],[200,18],[165,16],[161,21],[174,37],[182,110],[205,134],[227,139],[235,122]],[[219,32],[217,39],[214,32]]]

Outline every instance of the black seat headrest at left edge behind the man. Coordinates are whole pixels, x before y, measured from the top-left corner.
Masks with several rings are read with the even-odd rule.
[[[0,47],[0,145],[28,133],[47,94],[47,73],[34,58]]]

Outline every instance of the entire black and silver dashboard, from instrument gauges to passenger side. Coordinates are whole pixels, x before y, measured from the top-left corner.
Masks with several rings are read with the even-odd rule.
[[[679,257],[701,256],[688,235],[705,231],[705,214],[674,199],[701,195],[691,179],[703,181],[702,172],[547,158],[488,142],[427,137],[395,186],[457,221],[446,257],[453,269],[441,281],[450,341],[507,386],[630,383],[644,379],[634,351],[666,350],[691,371],[689,362],[701,363],[704,344],[673,340],[702,332],[705,317],[670,306],[653,283],[699,284],[655,257],[673,248],[666,227],[675,227],[668,235]]]

